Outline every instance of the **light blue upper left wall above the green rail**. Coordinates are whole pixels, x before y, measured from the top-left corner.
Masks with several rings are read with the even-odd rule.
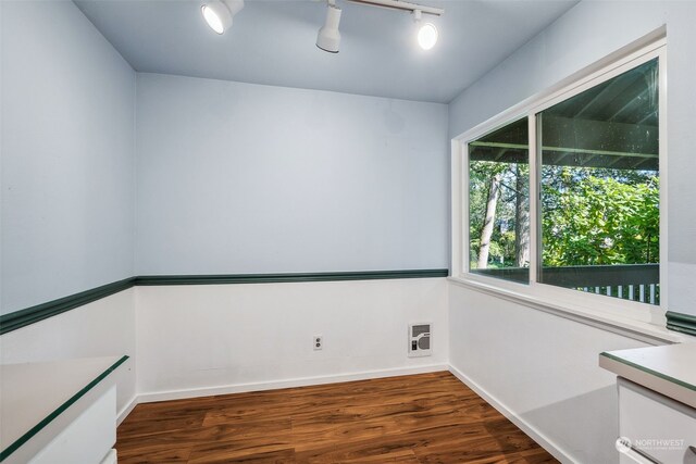
[[[69,1],[2,1],[1,312],[133,275],[135,73]]]

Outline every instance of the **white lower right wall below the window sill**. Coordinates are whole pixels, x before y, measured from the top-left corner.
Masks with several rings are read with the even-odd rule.
[[[616,376],[598,355],[645,343],[456,284],[449,304],[452,367],[573,462],[618,462]]]

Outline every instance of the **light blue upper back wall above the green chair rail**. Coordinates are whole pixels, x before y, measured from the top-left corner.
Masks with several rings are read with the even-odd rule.
[[[137,274],[447,267],[447,105],[137,87]]]

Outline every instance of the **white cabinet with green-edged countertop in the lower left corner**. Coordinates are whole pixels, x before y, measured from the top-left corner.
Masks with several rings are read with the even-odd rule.
[[[0,366],[2,464],[114,464],[116,386],[128,356]]]

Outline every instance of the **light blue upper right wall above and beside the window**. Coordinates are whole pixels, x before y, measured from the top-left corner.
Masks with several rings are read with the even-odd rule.
[[[664,24],[669,83],[668,297],[671,310],[696,314],[696,2],[579,3],[451,102],[449,135],[464,133]]]

